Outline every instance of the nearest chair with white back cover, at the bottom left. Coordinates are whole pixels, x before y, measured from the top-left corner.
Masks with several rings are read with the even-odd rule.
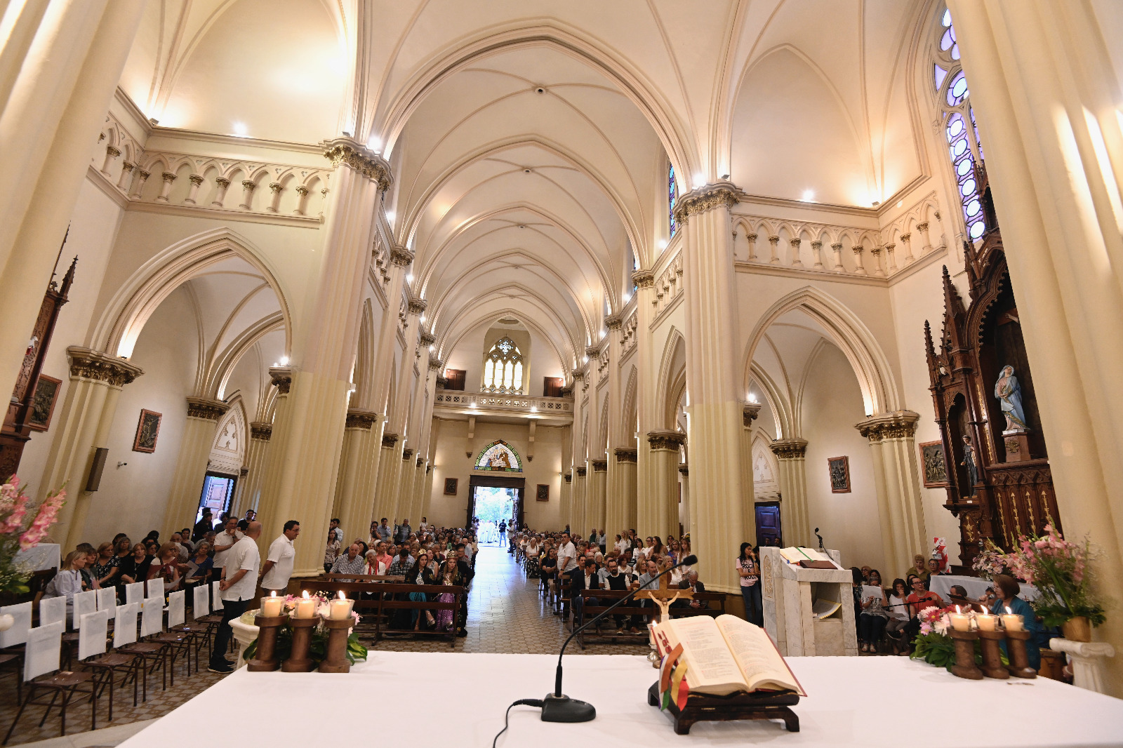
[[[65,598],[63,601],[65,602]],[[62,655],[62,636],[65,628],[65,623],[55,621],[54,623],[38,626],[28,631],[27,649],[24,657],[24,682],[27,685],[27,699],[19,705],[16,719],[12,720],[11,727],[8,728],[8,735],[4,736],[3,744],[0,745],[8,744],[8,740],[11,739],[11,733],[16,730],[16,726],[19,724],[19,718],[24,715],[24,710],[30,704],[47,708],[43,713],[43,719],[39,720],[39,727],[43,727],[44,722],[51,715],[51,710],[57,703],[60,729],[62,730],[62,735],[65,736],[66,710],[70,708],[70,703],[74,696],[80,694],[90,695],[90,729],[95,730],[98,728],[98,692],[93,683],[93,673],[62,672],[42,681],[34,679],[58,669],[60,657]],[[83,688],[83,684],[89,687]],[[49,701],[45,701],[47,696],[51,696]]]

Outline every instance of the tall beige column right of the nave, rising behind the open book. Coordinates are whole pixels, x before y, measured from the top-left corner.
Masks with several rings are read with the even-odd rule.
[[[687,438],[693,473],[692,548],[706,587],[739,592],[730,558],[745,539],[741,519],[741,376],[729,208],[741,191],[722,181],[684,194]]]

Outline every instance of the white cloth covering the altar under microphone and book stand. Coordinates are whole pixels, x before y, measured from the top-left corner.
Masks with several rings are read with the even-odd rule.
[[[515,706],[499,740],[524,746],[885,746],[901,748],[900,730],[878,715],[937,714],[933,736],[952,730],[985,746],[1123,746],[1123,700],[1056,681],[965,681],[904,657],[791,657],[810,694],[793,708],[801,732],[778,722],[699,722],[676,736],[670,718],[647,705],[656,673],[632,655],[578,655],[565,660],[565,693],[596,706],[582,724],[542,722],[539,710]],[[372,649],[349,674],[228,675],[136,736],[124,748],[183,746],[219,714],[238,714],[240,729],[209,730],[209,748],[257,745],[272,735],[286,746],[366,745],[391,730],[407,744],[491,746],[503,711],[518,699],[541,699],[554,685],[557,657],[387,653]],[[424,694],[417,697],[417,694]],[[935,712],[931,712],[935,709]],[[234,711],[231,711],[234,710]],[[1002,728],[995,715],[1010,717]],[[326,727],[328,726],[328,727]],[[375,733],[371,731],[374,730]],[[430,730],[451,737],[430,741]],[[933,732],[934,730],[934,732]],[[417,731],[411,733],[410,731]]]

